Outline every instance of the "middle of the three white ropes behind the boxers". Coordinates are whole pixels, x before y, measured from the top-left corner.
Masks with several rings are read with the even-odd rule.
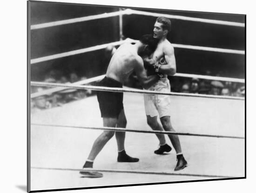
[[[100,50],[104,49],[108,46],[118,46],[123,43],[135,43],[138,40],[133,40],[130,38],[127,38],[126,40],[121,40],[121,41],[116,41],[112,43],[107,43],[107,44],[101,44],[93,47],[87,47],[87,48],[82,48],[78,50],[73,50],[73,51],[68,51],[68,52],[63,52],[63,53],[57,53],[49,56],[44,56],[40,58],[35,58],[30,60],[30,64],[35,64],[47,60],[54,60],[58,58],[63,58],[67,56],[72,56],[76,54],[81,54],[81,53],[87,53],[87,52],[92,52],[95,50]],[[187,48],[187,49],[195,49],[195,50],[202,50],[202,51],[211,51],[211,52],[220,52],[220,53],[235,53],[235,54],[245,54],[245,51],[243,50],[232,50],[232,49],[222,49],[222,48],[216,48],[216,47],[202,47],[202,46],[191,46],[191,45],[183,45],[183,44],[172,44],[174,47],[178,48]]]

